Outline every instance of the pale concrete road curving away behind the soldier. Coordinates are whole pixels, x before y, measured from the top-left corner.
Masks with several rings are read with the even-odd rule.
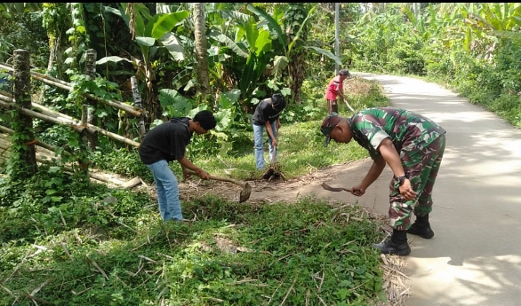
[[[356,75],[381,82],[392,106],[447,130],[430,214],[435,236],[409,235],[407,306],[521,305],[521,130],[436,84]],[[388,184],[386,173],[375,183]],[[387,212],[387,189],[377,187],[375,208]]]

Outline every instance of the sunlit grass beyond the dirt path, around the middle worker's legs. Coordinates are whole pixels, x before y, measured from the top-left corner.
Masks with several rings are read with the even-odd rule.
[[[389,98],[383,96],[381,85],[377,82],[354,77],[346,83],[345,91],[349,104],[355,110],[373,106],[389,106]],[[316,118],[289,124],[283,120],[282,128],[278,131],[278,162],[286,178],[300,177],[316,169],[324,169],[333,164],[356,161],[369,156],[365,149],[356,142],[349,145],[332,142],[327,147],[324,146],[325,137],[320,132],[320,124],[325,118],[326,109],[323,101],[319,103],[324,105],[324,108]],[[344,116],[352,114],[345,104],[339,105],[339,112]],[[220,176],[238,179],[259,178],[264,170],[255,169],[252,143],[249,146],[250,151],[246,151],[239,157],[205,159],[196,161],[196,165]],[[268,161],[267,153],[265,159]],[[173,169],[177,174],[181,174],[178,165],[174,164]]]

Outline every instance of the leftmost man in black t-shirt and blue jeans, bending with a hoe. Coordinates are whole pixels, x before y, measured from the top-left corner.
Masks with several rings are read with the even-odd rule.
[[[138,150],[140,160],[154,176],[159,212],[163,220],[183,220],[177,178],[168,162],[179,161],[185,177],[189,176],[188,169],[191,169],[198,177],[208,179],[208,173],[189,161],[185,153],[194,131],[199,135],[205,134],[216,124],[213,114],[204,110],[197,113],[194,119],[173,117],[150,129],[143,138]]]

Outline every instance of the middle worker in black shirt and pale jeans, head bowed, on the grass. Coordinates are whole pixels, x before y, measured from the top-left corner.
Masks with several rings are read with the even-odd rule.
[[[266,161],[264,161],[263,134],[264,128],[268,133],[269,143],[269,161],[275,154],[277,161],[278,143],[277,130],[280,129],[281,123],[279,115],[285,108],[285,98],[276,93],[271,98],[265,98],[259,102],[253,113],[253,147],[255,149],[255,167],[264,169]]]

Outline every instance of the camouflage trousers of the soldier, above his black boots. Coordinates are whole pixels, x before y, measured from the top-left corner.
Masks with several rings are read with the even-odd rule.
[[[415,200],[404,200],[399,182],[393,177],[389,184],[389,222],[393,229],[405,231],[411,226],[411,213],[426,216],[432,211],[432,188],[445,151],[445,135],[440,135],[420,151],[400,153],[405,174],[409,177]]]

